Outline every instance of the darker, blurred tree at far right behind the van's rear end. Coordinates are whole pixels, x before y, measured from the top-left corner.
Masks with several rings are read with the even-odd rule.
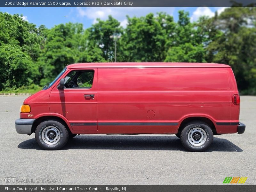
[[[256,28],[255,7],[225,9],[216,20],[215,28],[221,33],[207,46],[208,62],[228,64],[232,67],[240,90],[251,89],[255,94]]]

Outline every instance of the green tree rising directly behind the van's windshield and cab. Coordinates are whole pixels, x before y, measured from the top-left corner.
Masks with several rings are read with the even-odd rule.
[[[105,61],[102,51],[93,46],[90,34],[87,30],[84,31],[82,24],[69,22],[49,30],[40,26],[38,33],[44,37],[43,50],[38,58],[43,74],[41,85],[51,82],[68,64]]]

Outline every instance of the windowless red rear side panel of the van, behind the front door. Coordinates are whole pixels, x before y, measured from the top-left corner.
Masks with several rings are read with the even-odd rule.
[[[230,102],[226,68],[98,69],[98,133],[177,133],[190,116],[218,129]]]

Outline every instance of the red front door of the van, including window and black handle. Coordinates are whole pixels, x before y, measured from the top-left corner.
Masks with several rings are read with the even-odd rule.
[[[65,88],[50,94],[51,113],[65,116],[76,133],[97,132],[97,69],[71,69]]]

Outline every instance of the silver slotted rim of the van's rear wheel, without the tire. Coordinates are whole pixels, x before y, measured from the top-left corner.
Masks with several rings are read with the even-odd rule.
[[[188,132],[188,142],[194,146],[203,145],[206,138],[206,132],[200,127],[195,127]]]

